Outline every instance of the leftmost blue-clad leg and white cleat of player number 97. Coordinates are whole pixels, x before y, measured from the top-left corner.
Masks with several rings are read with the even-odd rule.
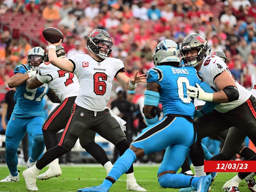
[[[20,141],[25,136],[25,133],[26,126],[24,120],[11,116],[5,132],[6,164],[9,168],[10,174],[0,182],[19,181],[17,151]]]

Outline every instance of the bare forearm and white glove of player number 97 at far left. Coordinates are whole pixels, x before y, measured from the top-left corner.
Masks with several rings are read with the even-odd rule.
[[[9,88],[18,87],[33,75],[36,75],[36,71],[28,70],[28,72],[25,74],[18,72],[9,79],[8,86]]]

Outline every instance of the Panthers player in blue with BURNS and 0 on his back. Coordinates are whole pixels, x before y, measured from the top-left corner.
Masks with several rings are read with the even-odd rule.
[[[196,70],[180,66],[180,49],[173,40],[162,40],[153,53],[155,67],[147,72],[147,90],[144,109],[147,128],[130,144],[130,148],[115,162],[107,178],[100,186],[78,189],[108,192],[129,166],[146,154],[166,148],[164,159],[158,169],[161,187],[196,187],[207,192],[211,175],[192,177],[175,174],[183,164],[190,148],[196,141],[196,123],[193,121],[193,100],[187,96],[186,87],[201,83]],[[164,117],[158,121],[156,107],[162,104]]]

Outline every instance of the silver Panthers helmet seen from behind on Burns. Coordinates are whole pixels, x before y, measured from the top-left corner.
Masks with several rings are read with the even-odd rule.
[[[180,47],[175,41],[165,39],[159,42],[152,55],[154,65],[180,65]]]

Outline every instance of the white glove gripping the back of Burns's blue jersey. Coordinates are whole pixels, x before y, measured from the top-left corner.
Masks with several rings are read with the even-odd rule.
[[[187,95],[203,101],[212,102],[213,100],[213,93],[204,92],[204,90],[197,83],[196,87],[193,87],[191,85],[187,87]]]

